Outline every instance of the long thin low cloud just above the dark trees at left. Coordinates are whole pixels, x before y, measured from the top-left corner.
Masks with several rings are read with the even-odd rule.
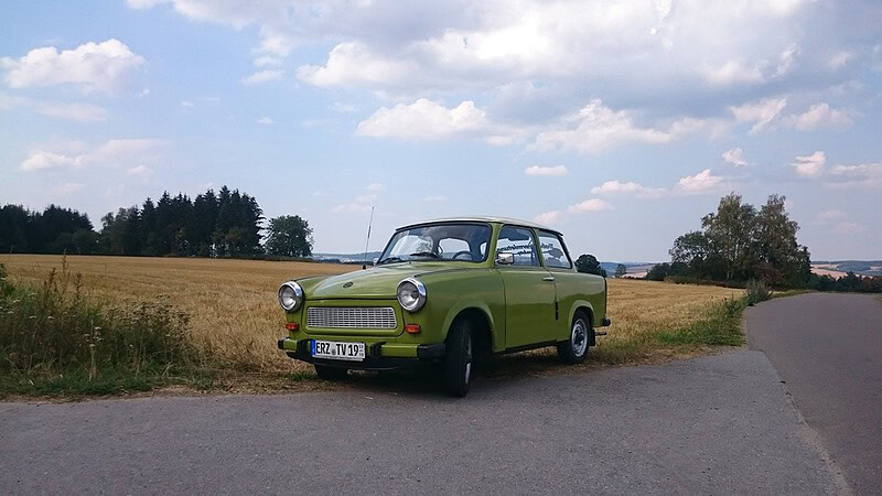
[[[67,151],[42,149],[31,151],[20,164],[20,169],[25,172],[76,170],[88,164],[137,168],[144,162],[155,160],[157,152],[165,144],[168,144],[165,140],[116,139],[88,149],[83,143],[75,142]]]

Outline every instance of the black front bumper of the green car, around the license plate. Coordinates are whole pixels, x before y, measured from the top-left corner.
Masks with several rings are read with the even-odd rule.
[[[447,346],[444,343],[420,344],[412,346],[415,356],[385,356],[385,342],[373,343],[365,349],[365,359],[362,362],[332,360],[326,358],[314,358],[310,355],[312,349],[311,338],[291,339],[283,337],[279,339],[279,349],[286,352],[290,358],[308,362],[310,364],[327,365],[331,367],[348,368],[353,370],[395,370],[400,368],[415,368],[426,365],[437,364],[444,357]],[[391,352],[391,351],[390,351]],[[401,348],[396,352],[400,354]]]

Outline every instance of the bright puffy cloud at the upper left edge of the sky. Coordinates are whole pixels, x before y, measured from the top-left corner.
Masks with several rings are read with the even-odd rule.
[[[73,84],[84,91],[114,93],[144,58],[119,40],[85,43],[58,52],[54,46],[34,48],[15,60],[0,58],[12,88]]]

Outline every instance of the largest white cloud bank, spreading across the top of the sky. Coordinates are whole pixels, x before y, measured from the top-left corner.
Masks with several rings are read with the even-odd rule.
[[[159,3],[192,20],[243,30],[254,25],[256,57],[293,46],[333,46],[298,77],[319,86],[402,90],[493,88],[531,78],[610,88],[658,88],[676,78],[684,94],[706,80],[767,83],[795,66],[805,0],[607,2],[487,0],[392,2],[297,0],[128,0]],[[746,33],[746,34],[745,34]],[[603,93],[603,91],[599,91]],[[400,94],[399,94],[400,96]]]

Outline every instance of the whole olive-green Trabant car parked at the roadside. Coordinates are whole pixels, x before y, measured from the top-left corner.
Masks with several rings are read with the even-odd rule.
[[[557,346],[581,363],[610,325],[606,280],[576,271],[560,233],[495,217],[401,227],[373,268],[286,282],[279,303],[279,348],[319,377],[435,365],[453,396],[492,354]]]

